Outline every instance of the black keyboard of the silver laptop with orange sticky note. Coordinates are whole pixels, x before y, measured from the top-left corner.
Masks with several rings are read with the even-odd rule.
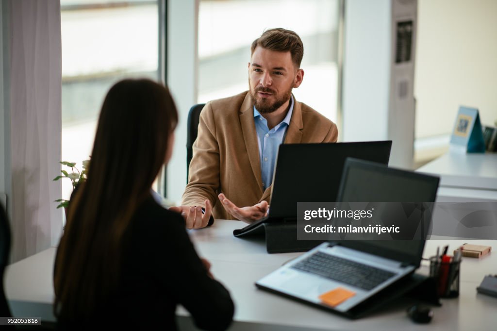
[[[370,265],[350,261],[341,257],[316,252],[303,259],[292,268],[314,273],[332,280],[369,291],[395,273],[372,267]]]

